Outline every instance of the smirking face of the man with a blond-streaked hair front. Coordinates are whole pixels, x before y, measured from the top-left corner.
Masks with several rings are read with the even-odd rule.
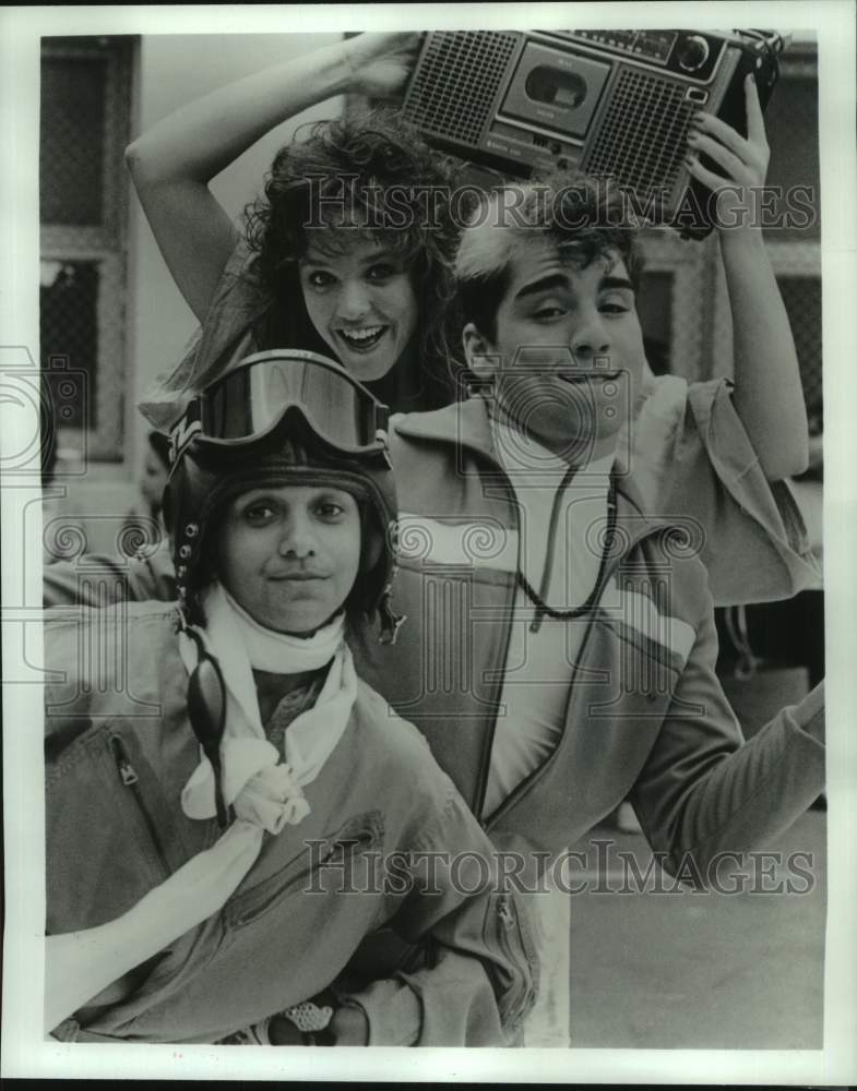
[[[471,324],[464,345],[471,368],[493,380],[499,419],[571,465],[615,449],[645,361],[617,254],[581,268],[534,231],[513,252],[495,337]]]

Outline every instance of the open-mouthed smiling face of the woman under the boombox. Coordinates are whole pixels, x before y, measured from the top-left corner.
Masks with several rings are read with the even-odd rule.
[[[357,227],[335,229],[337,243],[347,241],[328,249],[329,230],[319,228],[298,263],[303,301],[313,326],[343,365],[355,379],[371,382],[405,352],[417,327],[419,303],[398,254]]]

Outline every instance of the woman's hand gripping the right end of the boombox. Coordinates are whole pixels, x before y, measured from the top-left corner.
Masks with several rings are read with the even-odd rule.
[[[685,160],[690,173],[717,194],[716,223],[724,242],[759,228],[759,190],[764,185],[771,158],[755,80],[748,75],[743,86],[747,136],[711,113],[697,113],[688,136],[690,152]],[[703,167],[701,154],[722,167],[723,173]]]

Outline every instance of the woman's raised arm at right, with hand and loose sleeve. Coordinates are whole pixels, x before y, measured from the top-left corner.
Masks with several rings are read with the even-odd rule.
[[[633,425],[646,508],[692,520],[717,606],[821,586],[787,480],[807,466],[808,425],[791,329],[753,208],[769,149],[752,80],[746,98],[748,139],[701,115],[688,159],[691,173],[717,194],[735,382],[651,380]],[[701,166],[699,155],[717,171]]]

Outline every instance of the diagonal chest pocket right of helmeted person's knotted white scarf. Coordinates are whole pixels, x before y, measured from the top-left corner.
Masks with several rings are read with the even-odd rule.
[[[377,848],[383,841],[383,832],[381,812],[367,811],[349,818],[334,832],[311,839],[311,847],[305,842],[303,850],[297,856],[227,902],[227,930],[242,928],[264,916],[281,904],[286,896],[306,885],[321,866],[332,864],[334,858],[338,864],[340,858],[344,861],[347,854],[356,855]]]

